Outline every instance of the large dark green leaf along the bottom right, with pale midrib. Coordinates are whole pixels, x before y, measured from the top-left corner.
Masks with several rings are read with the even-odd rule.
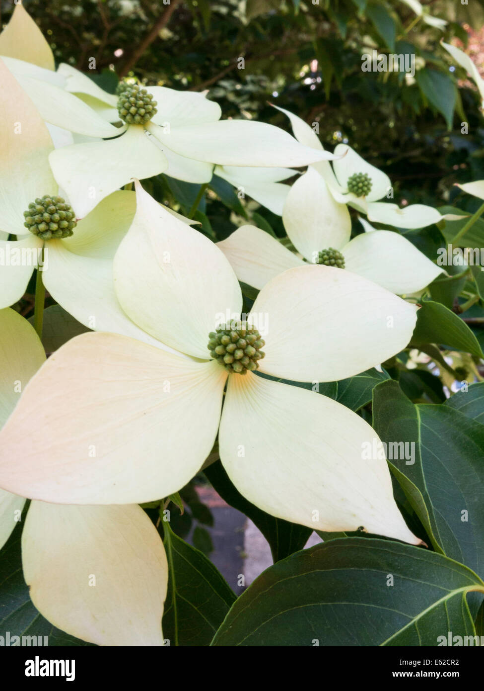
[[[418,547],[342,538],[264,571],[242,593],[212,645],[435,646],[475,635],[466,567]]]

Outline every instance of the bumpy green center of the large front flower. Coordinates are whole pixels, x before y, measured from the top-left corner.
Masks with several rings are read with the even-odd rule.
[[[227,372],[244,375],[247,370],[253,372],[259,367],[258,360],[265,355],[262,350],[265,341],[257,329],[248,326],[245,321],[232,321],[219,326],[209,333],[211,357],[216,359]]]

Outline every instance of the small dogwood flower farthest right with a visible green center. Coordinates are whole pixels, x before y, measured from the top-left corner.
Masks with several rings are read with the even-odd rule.
[[[318,151],[323,150],[316,133],[304,120],[284,110],[284,108],[274,107],[289,117],[294,136],[298,142],[318,149]],[[458,218],[453,214],[441,216],[436,209],[423,204],[412,204],[400,209],[396,204],[380,202],[379,200],[385,198],[389,193],[393,196],[391,182],[386,173],[367,163],[347,144],[338,144],[334,154],[336,158],[333,160],[333,168],[328,161],[320,161],[311,165],[311,168],[316,170],[324,180],[333,199],[338,202],[339,206],[334,205],[329,194],[325,193],[324,198],[328,205],[327,215],[334,217],[334,223],[348,218],[345,209],[342,208],[343,205],[353,207],[375,223],[384,223],[405,229],[424,228],[441,220],[456,220]],[[307,183],[302,181],[302,178],[304,176],[296,180],[293,185],[293,188],[296,188],[295,196],[300,189],[304,193],[304,184]]]

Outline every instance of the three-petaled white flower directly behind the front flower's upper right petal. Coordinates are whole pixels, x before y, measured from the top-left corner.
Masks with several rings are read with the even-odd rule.
[[[397,232],[375,230],[350,240],[351,219],[333,199],[325,180],[309,168],[291,187],[282,211],[291,243],[313,264],[336,266],[374,281],[399,295],[422,290],[443,269]],[[244,225],[218,243],[239,281],[262,288],[302,258],[253,225]]]

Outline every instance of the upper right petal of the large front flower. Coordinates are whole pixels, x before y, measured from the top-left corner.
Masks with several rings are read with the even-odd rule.
[[[291,381],[336,381],[385,362],[412,337],[416,306],[345,269],[307,265],[265,285],[260,370]]]

